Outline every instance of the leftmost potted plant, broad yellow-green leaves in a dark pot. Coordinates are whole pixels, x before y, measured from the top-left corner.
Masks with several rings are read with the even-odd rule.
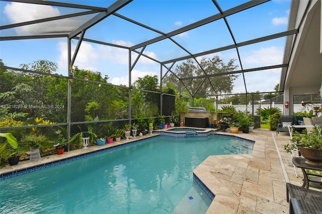
[[[17,139],[11,133],[0,133],[0,137],[7,138],[5,144],[0,147],[0,153],[8,157],[8,162],[11,166],[17,165],[20,159],[20,147],[18,145]],[[9,143],[10,149],[6,151],[6,146]]]

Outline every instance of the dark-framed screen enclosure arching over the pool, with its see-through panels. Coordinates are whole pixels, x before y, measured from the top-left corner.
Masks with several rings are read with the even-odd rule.
[[[275,104],[321,103],[319,11],[319,1],[2,1],[0,131],[60,127],[69,139],[86,124],[180,120],[193,106],[250,113],[285,90]],[[317,82],[293,93],[304,30]]]

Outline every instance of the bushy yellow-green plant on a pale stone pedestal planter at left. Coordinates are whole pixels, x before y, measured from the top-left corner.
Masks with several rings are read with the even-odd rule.
[[[48,138],[42,133],[34,133],[24,136],[21,139],[21,142],[25,145],[28,145],[30,148],[30,161],[37,161],[41,159],[39,148],[45,142],[48,142]]]

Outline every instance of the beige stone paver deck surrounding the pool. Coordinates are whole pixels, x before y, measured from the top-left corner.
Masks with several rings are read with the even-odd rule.
[[[253,154],[209,156],[194,170],[196,176],[216,195],[207,213],[288,213],[286,182],[300,186],[303,179],[301,170],[296,169],[296,177],[294,167],[288,166],[286,162],[286,159],[291,158],[283,149],[283,145],[289,140],[288,133],[276,136],[274,131],[257,129],[249,134],[219,134],[236,135],[256,143]],[[155,134],[136,139],[150,136]],[[16,171],[136,139],[51,155],[36,162],[23,161],[16,166],[7,166],[0,170],[1,173]]]

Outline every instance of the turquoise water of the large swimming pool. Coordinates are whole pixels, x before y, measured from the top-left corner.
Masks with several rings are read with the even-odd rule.
[[[253,145],[153,137],[1,180],[0,213],[205,213],[211,201],[193,182],[193,169],[209,155],[251,153]]]

